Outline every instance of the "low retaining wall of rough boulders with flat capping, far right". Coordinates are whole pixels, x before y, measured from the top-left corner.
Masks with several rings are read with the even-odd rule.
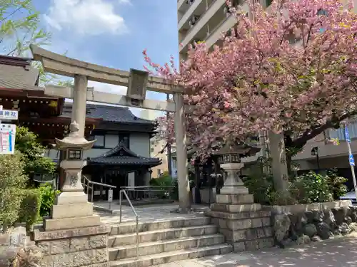
[[[273,234],[281,247],[332,239],[357,231],[357,206],[335,201],[293,206],[264,206],[272,216]]]

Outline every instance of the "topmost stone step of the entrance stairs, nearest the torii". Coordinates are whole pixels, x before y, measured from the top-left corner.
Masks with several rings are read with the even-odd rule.
[[[155,231],[159,229],[171,229],[180,228],[188,226],[203,226],[211,224],[211,218],[206,216],[196,216],[193,218],[183,218],[183,219],[171,219],[169,221],[153,221],[153,222],[140,222],[139,221],[139,232],[144,231]],[[116,236],[119,234],[134,234],[136,233],[136,223],[126,222],[122,224],[115,224],[111,226],[111,236]]]

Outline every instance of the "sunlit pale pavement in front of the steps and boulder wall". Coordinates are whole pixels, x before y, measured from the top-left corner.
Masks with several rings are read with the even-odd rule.
[[[357,233],[293,248],[230,253],[156,267],[357,267]]]

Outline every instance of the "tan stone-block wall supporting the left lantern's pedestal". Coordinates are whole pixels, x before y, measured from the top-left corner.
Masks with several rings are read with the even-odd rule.
[[[34,231],[32,239],[41,250],[42,267],[108,267],[110,226],[58,231]]]

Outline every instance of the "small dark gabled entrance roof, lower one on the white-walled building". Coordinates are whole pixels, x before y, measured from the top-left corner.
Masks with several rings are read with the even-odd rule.
[[[109,165],[147,165],[158,166],[161,159],[158,157],[142,157],[132,152],[122,142],[99,157],[91,157],[89,163]]]

